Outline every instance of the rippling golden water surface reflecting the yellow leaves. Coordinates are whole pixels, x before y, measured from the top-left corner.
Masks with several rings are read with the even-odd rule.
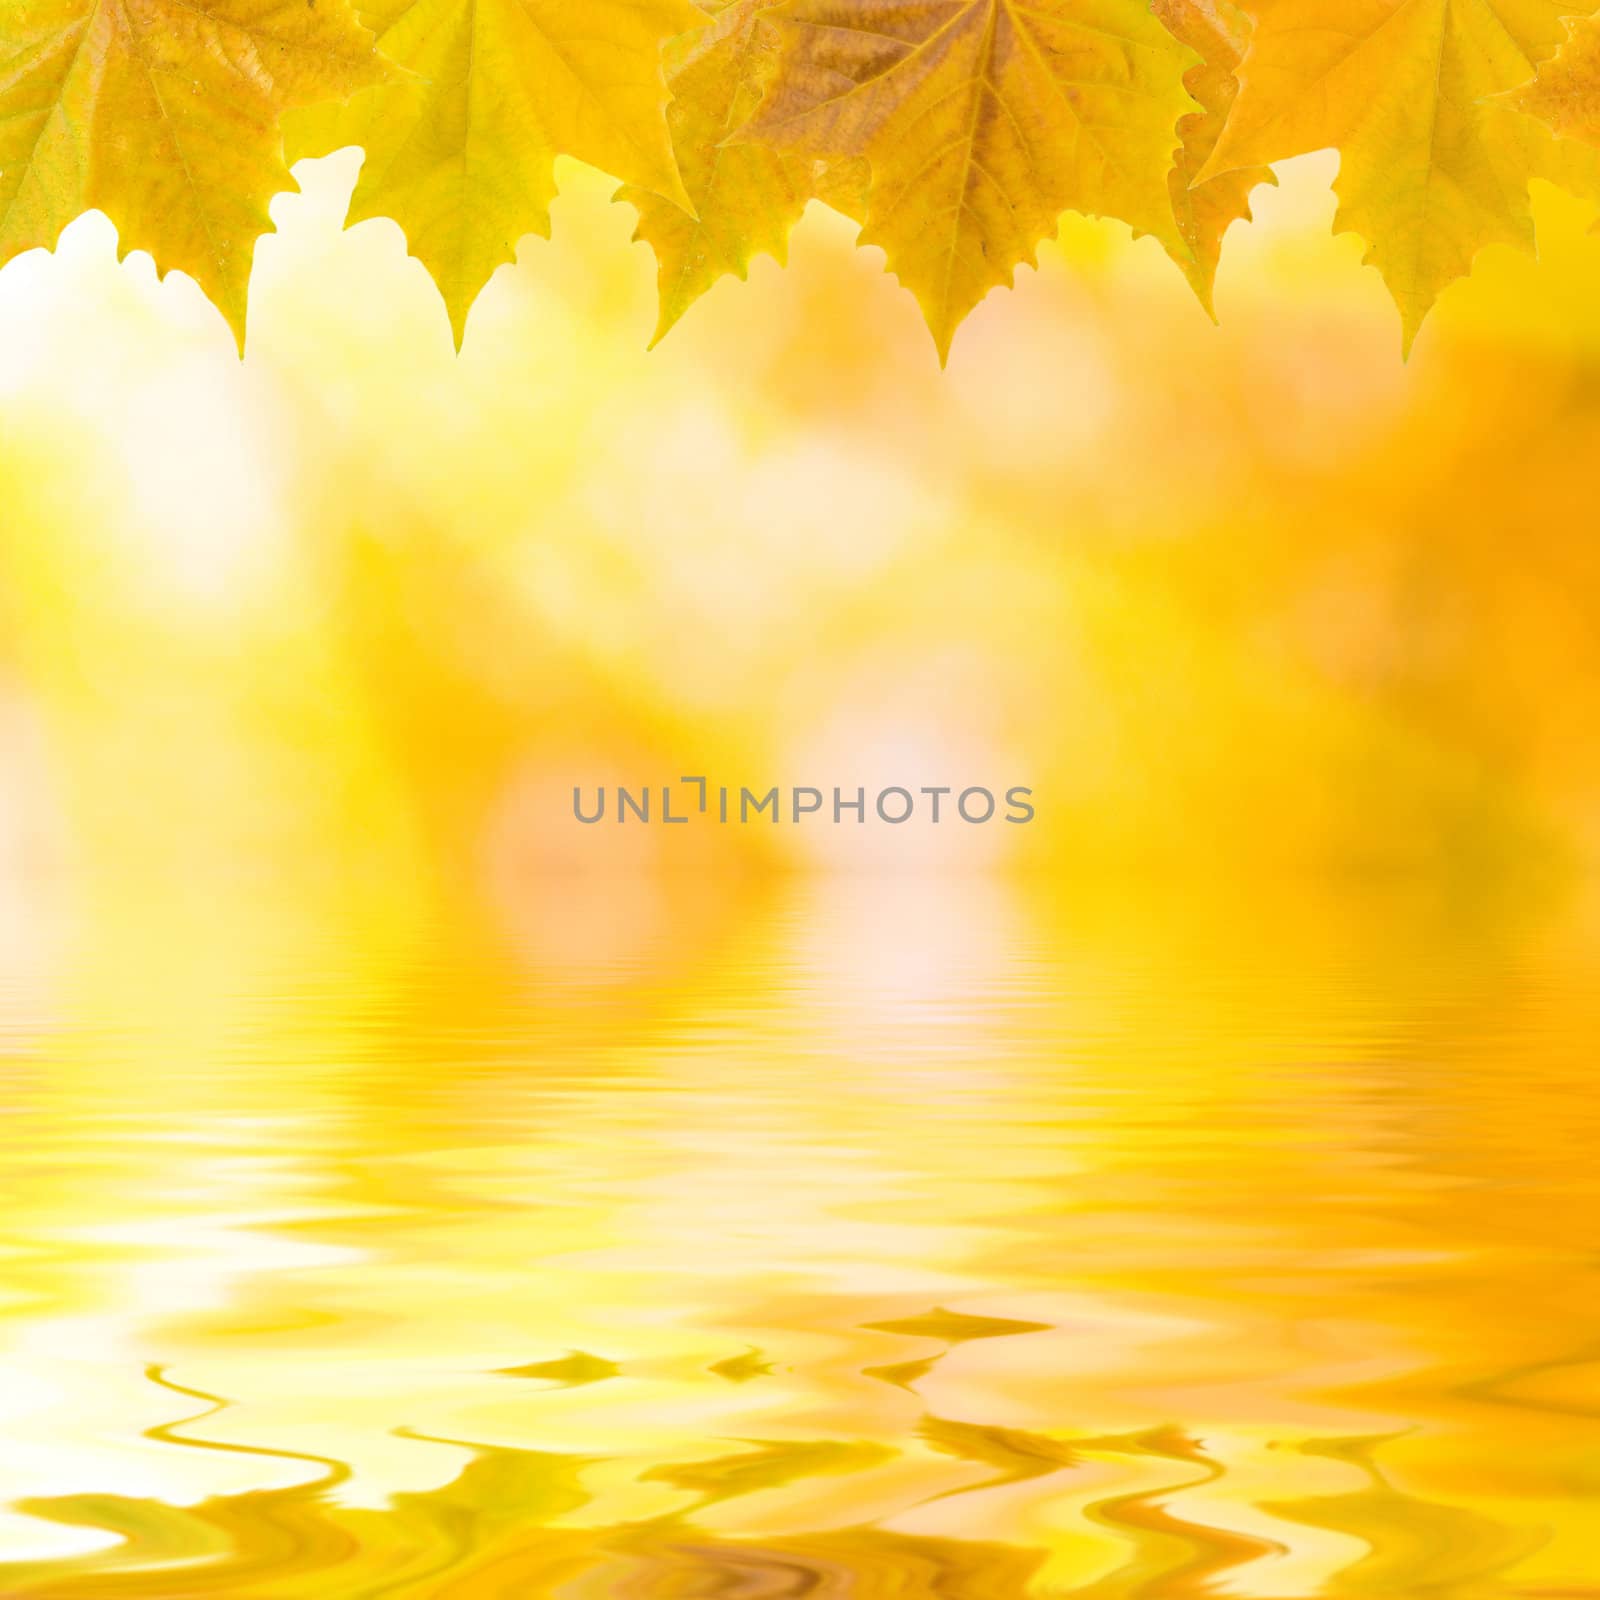
[[[1581,907],[714,898],[16,978],[0,1592],[1600,1595]]]

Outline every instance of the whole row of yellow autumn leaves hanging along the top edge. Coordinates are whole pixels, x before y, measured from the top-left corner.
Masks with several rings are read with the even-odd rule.
[[[459,341],[555,157],[622,181],[661,333],[811,200],[861,224],[941,358],[1064,211],[1160,242],[1210,309],[1275,160],[1341,152],[1336,227],[1405,341],[1528,186],[1600,200],[1576,0],[0,0],[0,264],[98,208],[243,339],[290,162],[360,146]],[[1594,3],[1594,0],[1590,0]]]

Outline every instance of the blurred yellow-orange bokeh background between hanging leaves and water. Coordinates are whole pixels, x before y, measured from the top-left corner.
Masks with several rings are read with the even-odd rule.
[[[1542,264],[1488,251],[1410,365],[1307,158],[1234,232],[1221,328],[1069,219],[941,376],[816,208],[646,354],[648,251],[576,166],[458,358],[398,230],[339,230],[357,158],[277,202],[243,363],[99,218],[0,278],[10,872],[331,853],[398,914],[664,851],[1600,856],[1600,240],[1554,190]],[[560,826],[574,782],[702,770],[1040,814]]]

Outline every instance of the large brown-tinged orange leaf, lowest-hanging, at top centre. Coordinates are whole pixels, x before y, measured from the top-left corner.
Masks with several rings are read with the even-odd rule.
[[[1146,0],[786,0],[770,18],[779,64],[741,138],[867,160],[861,242],[941,362],[1069,208],[1192,258],[1168,173],[1195,56]]]

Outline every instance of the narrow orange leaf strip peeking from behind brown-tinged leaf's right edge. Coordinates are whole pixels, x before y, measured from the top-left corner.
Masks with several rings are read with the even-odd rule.
[[[1200,304],[1214,317],[1211,294],[1222,258],[1222,235],[1235,222],[1250,221],[1251,189],[1277,182],[1270,166],[1238,166],[1198,181],[1238,94],[1235,72],[1250,43],[1250,18],[1232,0],[1154,0],[1154,11],[1200,56],[1200,66],[1184,77],[1200,110],[1178,125],[1182,147],[1168,184],[1173,214],[1189,246],[1189,259],[1178,258],[1178,266]]]

